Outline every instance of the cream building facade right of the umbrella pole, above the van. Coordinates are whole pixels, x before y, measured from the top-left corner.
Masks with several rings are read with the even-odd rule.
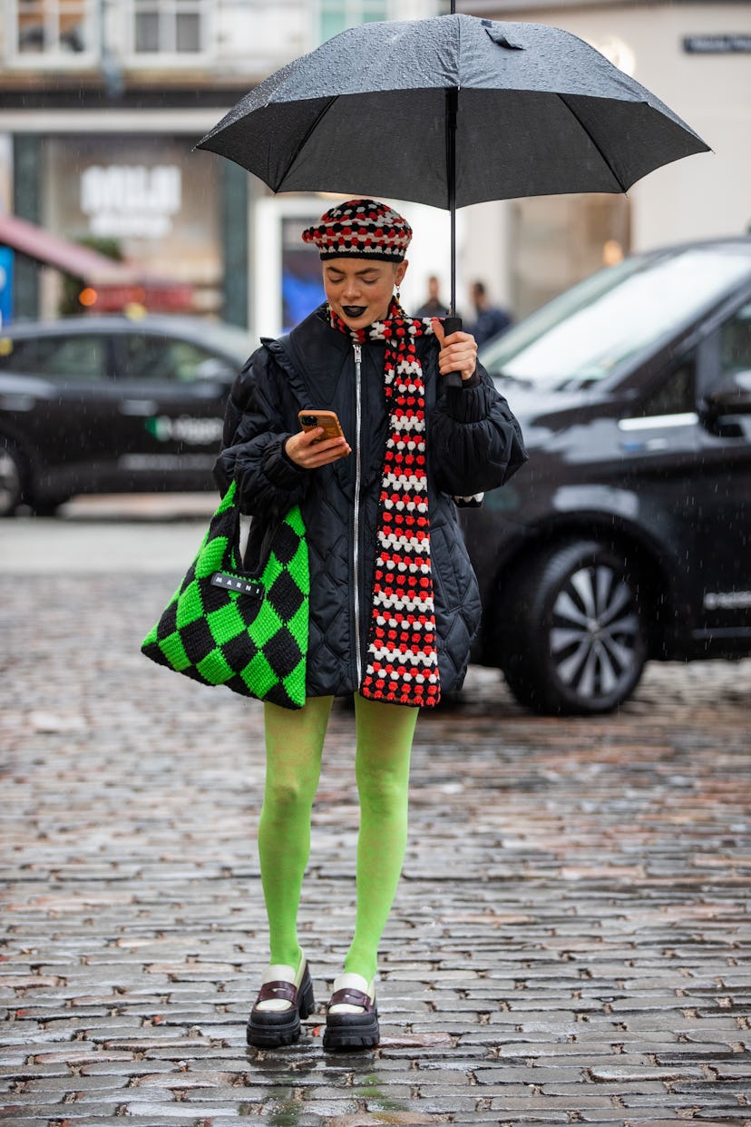
[[[464,269],[522,316],[629,250],[751,224],[751,3],[461,0],[489,19],[552,24],[652,90],[712,148],[625,196],[549,196],[470,208]]]

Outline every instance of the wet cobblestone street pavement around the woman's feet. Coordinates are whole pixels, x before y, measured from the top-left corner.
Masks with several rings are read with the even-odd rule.
[[[26,575],[25,525],[1,530],[6,1121],[751,1125],[751,662],[652,665],[596,720],[533,717],[473,668],[418,726],[383,1040],[342,1056],[321,1037],[354,917],[337,707],[301,912],[319,1008],[260,1053],[261,708],[138,653],[179,579],[163,527],[71,574],[63,525]]]

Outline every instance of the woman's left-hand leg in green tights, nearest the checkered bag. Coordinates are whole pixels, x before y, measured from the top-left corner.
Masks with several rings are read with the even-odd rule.
[[[311,851],[311,808],[331,696],[313,696],[298,710],[265,703],[266,788],[258,825],[261,884],[269,922],[271,964],[297,967],[297,908]]]

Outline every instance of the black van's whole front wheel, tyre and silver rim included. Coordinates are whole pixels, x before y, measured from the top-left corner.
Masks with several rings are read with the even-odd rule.
[[[553,715],[610,712],[633,692],[647,655],[636,576],[596,541],[549,549],[510,582],[498,640],[520,703]]]

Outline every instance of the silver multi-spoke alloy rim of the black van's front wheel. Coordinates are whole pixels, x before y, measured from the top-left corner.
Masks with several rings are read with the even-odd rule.
[[[579,568],[553,604],[549,642],[557,677],[582,700],[613,696],[633,678],[640,633],[625,579],[604,564]]]

